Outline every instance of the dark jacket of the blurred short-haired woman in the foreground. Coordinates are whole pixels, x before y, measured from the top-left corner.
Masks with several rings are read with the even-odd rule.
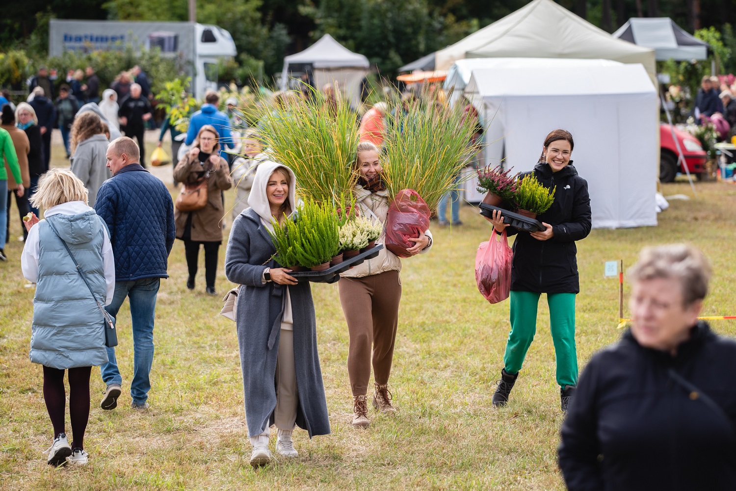
[[[585,367],[562,425],[570,491],[736,490],[736,342],[705,322],[676,356],[630,331]]]

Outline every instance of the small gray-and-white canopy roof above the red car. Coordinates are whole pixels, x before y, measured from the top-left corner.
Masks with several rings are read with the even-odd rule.
[[[613,33],[614,38],[654,48],[657,60],[707,60],[709,45],[668,17],[630,18]]]

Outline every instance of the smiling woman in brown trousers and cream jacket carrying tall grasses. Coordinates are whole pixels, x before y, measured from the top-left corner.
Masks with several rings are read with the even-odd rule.
[[[378,147],[363,141],[358,144],[357,154],[355,166],[360,177],[354,189],[356,212],[383,225],[389,212],[389,197],[381,179]],[[384,235],[385,232],[381,239]],[[415,244],[408,249],[411,255],[432,247],[429,230],[408,240]],[[347,373],[353,390],[354,426],[370,425],[367,392],[371,364],[375,380],[373,406],[384,414],[396,411],[388,383],[401,300],[400,270],[400,258],[382,249],[376,258],[342,273],[339,281],[340,303],[350,333]]]

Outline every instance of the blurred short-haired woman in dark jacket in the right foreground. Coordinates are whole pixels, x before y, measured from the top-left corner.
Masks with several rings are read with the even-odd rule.
[[[562,425],[568,490],[736,489],[736,342],[698,322],[709,277],[693,247],[642,251],[631,329],[590,359]]]

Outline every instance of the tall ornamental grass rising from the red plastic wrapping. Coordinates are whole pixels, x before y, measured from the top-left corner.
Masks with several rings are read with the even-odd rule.
[[[463,107],[447,107],[425,91],[419,99],[395,104],[386,115],[383,181],[394,199],[414,189],[431,210],[453,186],[455,177],[480,149],[470,144],[477,121]]]

